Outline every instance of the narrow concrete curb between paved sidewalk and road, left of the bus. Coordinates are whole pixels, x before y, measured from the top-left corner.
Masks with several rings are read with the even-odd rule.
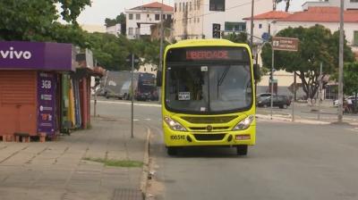
[[[143,199],[146,199],[148,177],[149,177],[149,146],[150,146],[150,129],[147,129],[147,138],[144,145],[144,158],[143,158],[143,169],[141,171],[141,194]]]

